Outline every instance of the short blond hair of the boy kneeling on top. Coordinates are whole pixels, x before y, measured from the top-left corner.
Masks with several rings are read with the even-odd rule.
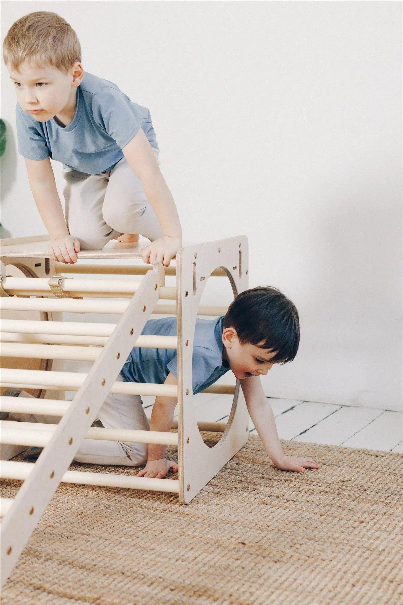
[[[11,25],[3,42],[3,59],[18,72],[28,60],[39,68],[53,65],[68,73],[76,61],[81,62],[81,46],[76,32],[63,17],[40,10]]]

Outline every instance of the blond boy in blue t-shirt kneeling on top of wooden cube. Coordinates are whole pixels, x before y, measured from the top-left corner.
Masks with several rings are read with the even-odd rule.
[[[51,258],[72,264],[81,249],[102,249],[114,238],[138,241],[141,234],[151,241],[141,249],[144,262],[169,266],[182,230],[149,110],[114,83],[84,73],[77,34],[56,13],[18,19],[3,56],[18,99],[18,151]],[[50,158],[63,164],[65,215]]]

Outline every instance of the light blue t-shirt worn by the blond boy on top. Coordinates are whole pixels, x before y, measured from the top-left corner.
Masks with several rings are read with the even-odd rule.
[[[18,152],[30,160],[50,156],[86,174],[110,170],[124,155],[122,148],[143,128],[150,145],[158,149],[151,116],[109,80],[85,73],[77,88],[74,119],[60,126],[54,117],[38,122],[16,105]]]

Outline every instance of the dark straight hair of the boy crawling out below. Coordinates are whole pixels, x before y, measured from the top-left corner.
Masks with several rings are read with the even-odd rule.
[[[280,290],[257,286],[241,292],[224,316],[223,328],[236,330],[240,344],[259,342],[276,355],[273,362],[285,364],[297,355],[300,343],[298,311]]]

